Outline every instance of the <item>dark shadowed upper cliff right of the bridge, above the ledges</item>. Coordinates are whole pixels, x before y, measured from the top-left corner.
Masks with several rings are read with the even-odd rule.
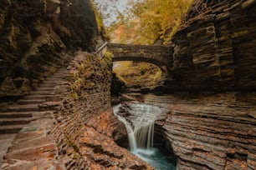
[[[174,35],[172,87],[255,89],[255,1],[195,1]]]

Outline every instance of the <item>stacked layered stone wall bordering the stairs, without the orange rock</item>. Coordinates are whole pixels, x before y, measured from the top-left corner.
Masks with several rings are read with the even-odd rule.
[[[101,63],[90,53],[79,52],[69,65],[69,92],[55,115],[58,123],[54,131],[59,161],[68,169],[86,167],[79,143],[86,132],[84,125],[96,114],[110,109],[111,74]]]

